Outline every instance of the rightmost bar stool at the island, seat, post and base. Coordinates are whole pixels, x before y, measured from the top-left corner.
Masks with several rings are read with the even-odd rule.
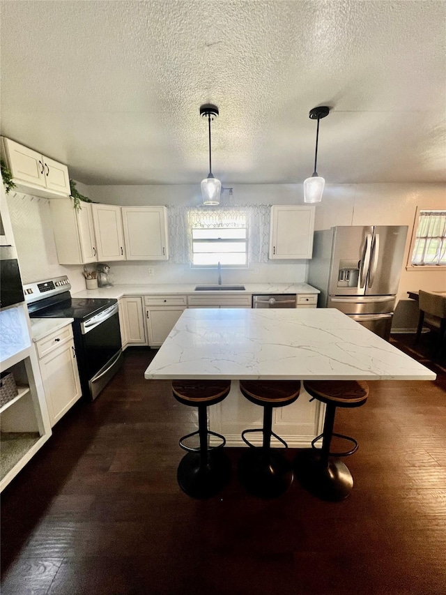
[[[334,415],[337,407],[361,407],[367,401],[367,382],[356,380],[306,380],[304,387],[313,399],[325,405],[323,432],[312,441],[312,449],[298,454],[295,471],[300,483],[307,490],[323,500],[339,502],[350,494],[353,477],[341,460],[330,457],[353,455],[358,449],[354,438],[333,432]],[[351,442],[353,447],[344,453],[330,452],[332,437],[336,436]],[[322,448],[316,449],[316,442],[322,439]]]

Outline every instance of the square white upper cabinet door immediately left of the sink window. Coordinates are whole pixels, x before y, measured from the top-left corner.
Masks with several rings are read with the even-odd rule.
[[[127,260],[167,260],[165,206],[123,206],[123,232]]]

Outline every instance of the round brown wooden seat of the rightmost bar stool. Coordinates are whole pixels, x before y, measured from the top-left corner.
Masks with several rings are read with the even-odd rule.
[[[360,407],[369,396],[369,386],[361,380],[305,380],[304,386],[312,397],[337,407]]]

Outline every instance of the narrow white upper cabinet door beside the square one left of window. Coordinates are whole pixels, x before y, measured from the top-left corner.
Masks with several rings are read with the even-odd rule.
[[[98,260],[125,260],[121,206],[92,204]]]

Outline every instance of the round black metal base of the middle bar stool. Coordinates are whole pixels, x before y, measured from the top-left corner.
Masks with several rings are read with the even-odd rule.
[[[294,474],[291,463],[275,451],[249,449],[240,458],[238,478],[247,492],[260,498],[276,498],[288,490]]]

